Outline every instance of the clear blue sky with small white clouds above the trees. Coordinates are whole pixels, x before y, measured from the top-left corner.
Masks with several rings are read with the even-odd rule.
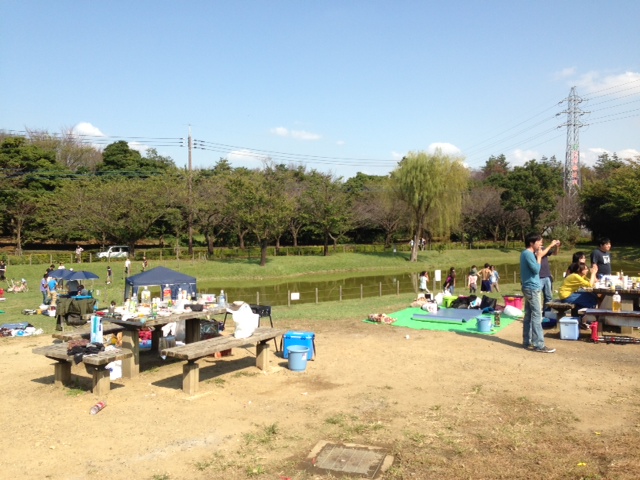
[[[640,2],[0,0],[0,130],[349,178],[640,155]]]

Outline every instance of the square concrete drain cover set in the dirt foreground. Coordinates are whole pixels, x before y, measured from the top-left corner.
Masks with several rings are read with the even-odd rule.
[[[379,447],[366,445],[329,443],[321,440],[313,448],[307,459],[316,469],[327,473],[362,475],[376,478],[393,463],[393,457]]]

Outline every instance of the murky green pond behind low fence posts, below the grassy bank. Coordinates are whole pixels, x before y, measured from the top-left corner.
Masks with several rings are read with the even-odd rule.
[[[480,268],[482,265],[478,265]],[[565,261],[552,261],[551,272],[555,279],[555,285],[563,278],[567,268]],[[614,267],[627,272],[629,275],[640,275],[640,265],[636,262],[616,262]],[[467,292],[466,284],[467,267],[457,267],[458,281],[456,293]],[[520,265],[502,264],[496,265],[500,273],[500,281],[503,284],[518,284],[520,281]],[[442,270],[442,281],[446,277],[447,270]],[[431,280],[429,288],[440,291],[442,283],[435,284],[433,272],[429,272]],[[555,287],[557,288],[557,287]],[[229,301],[242,300],[247,303],[259,303],[262,305],[288,305],[296,303],[321,303],[338,300],[352,300],[383,295],[397,295],[417,293],[418,272],[385,272],[381,275],[368,274],[336,274],[323,275],[317,278],[308,277],[288,279],[283,281],[260,281],[251,284],[250,281],[242,282],[198,282],[198,290],[201,293],[220,293],[224,290]],[[510,290],[503,293],[518,293]],[[292,299],[292,295],[294,298]]]

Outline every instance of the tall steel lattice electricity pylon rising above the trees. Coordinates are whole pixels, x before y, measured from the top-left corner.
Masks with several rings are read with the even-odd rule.
[[[566,123],[563,123],[560,127],[567,127],[567,152],[564,161],[564,190],[569,195],[577,193],[582,184],[580,178],[580,127],[583,127],[584,124],[580,121],[580,117],[587,113],[580,109],[580,103],[582,103],[582,101],[582,98],[576,94],[576,87],[572,87],[571,92],[566,99],[567,109],[558,114],[567,114]]]

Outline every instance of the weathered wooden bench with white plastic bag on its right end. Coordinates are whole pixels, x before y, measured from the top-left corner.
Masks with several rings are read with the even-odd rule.
[[[259,327],[248,338],[215,337],[179,347],[165,348],[161,354],[187,361],[182,369],[182,390],[189,395],[194,395],[198,391],[198,384],[200,383],[198,360],[230,348],[253,344],[256,345],[256,367],[260,370],[265,370],[269,365],[270,358],[269,340],[275,340],[285,333],[286,330]]]

